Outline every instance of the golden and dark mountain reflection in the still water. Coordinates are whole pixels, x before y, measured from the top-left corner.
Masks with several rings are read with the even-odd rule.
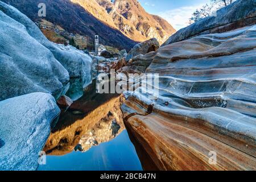
[[[91,85],[84,97],[61,114],[44,147],[47,154],[64,155],[75,147],[75,150],[86,151],[93,145],[115,138],[125,129],[120,109],[125,98],[115,94],[97,94],[94,88]]]

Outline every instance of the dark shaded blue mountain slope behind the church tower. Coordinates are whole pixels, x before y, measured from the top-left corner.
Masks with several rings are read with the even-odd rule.
[[[43,17],[44,19],[73,34],[88,36],[92,44],[96,34],[100,35],[101,44],[118,49],[129,50],[136,44],[134,40],[127,38],[116,28],[102,23],[84,7],[69,0],[3,0],[3,2],[16,7],[34,22],[40,18],[38,16],[39,3],[45,3],[47,15]]]

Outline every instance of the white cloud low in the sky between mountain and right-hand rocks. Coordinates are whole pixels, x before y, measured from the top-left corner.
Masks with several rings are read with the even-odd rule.
[[[178,9],[167,10],[160,12],[158,15],[166,19],[176,30],[187,27],[189,24],[189,18],[191,18],[193,12],[204,4],[196,6],[184,6]]]

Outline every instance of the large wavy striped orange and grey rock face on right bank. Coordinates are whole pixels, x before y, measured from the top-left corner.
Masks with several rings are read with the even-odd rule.
[[[159,85],[137,89],[122,106],[127,128],[157,169],[256,169],[255,37],[256,26],[200,35],[123,68],[143,64],[141,72],[159,73]],[[156,90],[159,97],[150,97]]]

